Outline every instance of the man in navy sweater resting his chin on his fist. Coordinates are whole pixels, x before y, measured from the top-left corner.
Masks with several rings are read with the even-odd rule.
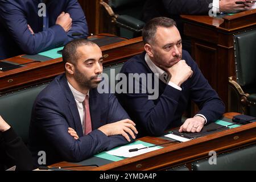
[[[165,17],[150,20],[143,28],[142,37],[146,52],[127,61],[121,73],[127,76],[138,73],[147,79],[129,80],[125,86],[129,92],[118,94],[118,100],[136,123],[139,133],[159,136],[164,130],[177,126],[180,126],[180,132],[195,133],[200,132],[205,123],[220,118],[225,106],[192,57],[182,50],[174,20]],[[150,77],[152,82],[148,81]],[[139,85],[139,93],[130,89],[138,89],[132,84]],[[142,89],[144,85],[147,86],[146,92]],[[148,97],[152,96],[151,87],[158,96],[156,99]],[[200,111],[182,124],[181,116],[191,99]]]

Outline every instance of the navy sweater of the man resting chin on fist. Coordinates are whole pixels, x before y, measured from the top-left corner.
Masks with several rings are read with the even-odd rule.
[[[121,73],[125,73],[125,75],[151,73],[152,85],[154,85],[154,74],[144,60],[144,56],[145,53],[132,57],[123,65]],[[198,114],[203,114],[208,123],[216,121],[224,113],[224,103],[210,87],[187,51],[183,50],[182,59],[192,68],[193,76],[181,84],[181,91],[157,78],[159,87],[156,90],[159,92],[159,97],[156,100],[148,100],[148,90],[146,93],[142,93],[141,88],[140,93],[117,95],[123,108],[137,124],[139,137],[142,135],[162,135],[164,130],[180,126],[182,114],[191,100],[199,106]],[[141,81],[139,85],[142,85]],[[127,90],[129,90],[129,86],[127,85]]]

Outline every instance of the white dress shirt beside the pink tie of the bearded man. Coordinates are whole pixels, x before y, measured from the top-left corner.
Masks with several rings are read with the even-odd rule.
[[[73,96],[75,97],[75,101],[76,101],[76,105],[77,105],[77,109],[79,111],[79,116],[81,119],[81,124],[82,124],[82,131],[84,132],[84,115],[85,115],[85,108],[84,108],[84,100],[86,95],[89,97],[89,91],[87,94],[83,94],[79,91],[77,91],[75,88],[73,88],[73,86],[68,82],[68,86],[71,89],[71,92],[73,94]]]

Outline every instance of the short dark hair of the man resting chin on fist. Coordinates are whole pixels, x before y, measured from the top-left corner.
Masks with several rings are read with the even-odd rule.
[[[155,33],[158,27],[177,27],[176,22],[167,17],[156,17],[151,19],[149,22],[146,23],[142,30],[142,38],[144,44],[150,44],[154,42]]]

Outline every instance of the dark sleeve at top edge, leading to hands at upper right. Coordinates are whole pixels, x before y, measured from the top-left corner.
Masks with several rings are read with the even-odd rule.
[[[162,0],[162,2],[170,15],[207,14],[212,0]]]

